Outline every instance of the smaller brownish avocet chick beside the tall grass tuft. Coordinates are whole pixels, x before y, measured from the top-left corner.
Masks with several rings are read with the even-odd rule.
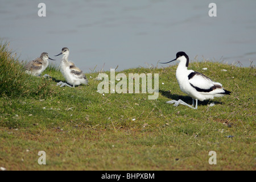
[[[25,72],[28,74],[31,74],[33,76],[40,76],[41,73],[46,70],[46,68],[48,67],[49,61],[50,60],[54,60],[49,58],[48,53],[47,52],[43,52],[39,58],[36,58],[35,60],[32,60],[30,62],[28,62],[24,68],[25,68]],[[44,76],[48,76],[48,75],[44,75]]]

